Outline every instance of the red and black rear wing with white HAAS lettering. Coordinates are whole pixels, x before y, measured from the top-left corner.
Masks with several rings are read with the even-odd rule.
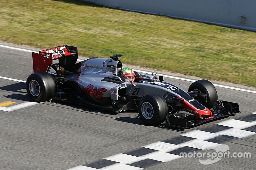
[[[52,61],[56,59],[59,59],[60,66],[65,70],[74,71],[78,58],[77,47],[63,45],[42,50],[39,53],[32,52],[32,58],[34,73],[39,71],[49,72]]]

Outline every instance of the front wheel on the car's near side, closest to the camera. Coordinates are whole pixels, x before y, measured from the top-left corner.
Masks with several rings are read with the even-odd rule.
[[[159,125],[165,121],[165,115],[168,115],[168,107],[162,96],[152,94],[141,98],[139,116],[145,124]]]

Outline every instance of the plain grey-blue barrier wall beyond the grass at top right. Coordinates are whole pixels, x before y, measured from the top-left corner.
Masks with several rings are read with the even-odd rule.
[[[256,31],[255,0],[84,0],[112,8]]]

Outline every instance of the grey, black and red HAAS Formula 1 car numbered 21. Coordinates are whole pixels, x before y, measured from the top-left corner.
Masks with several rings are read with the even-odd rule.
[[[147,125],[166,121],[183,129],[239,113],[239,104],[218,100],[208,80],[192,83],[186,92],[164,82],[156,72],[143,75],[134,71],[134,78],[125,79],[121,76],[121,56],[92,57],[77,63],[77,47],[64,45],[33,52],[34,73],[27,79],[28,95],[36,102],[55,99],[116,113],[136,110]]]

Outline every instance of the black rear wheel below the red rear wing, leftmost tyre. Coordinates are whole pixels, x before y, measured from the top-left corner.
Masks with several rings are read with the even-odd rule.
[[[56,85],[49,73],[36,72],[28,76],[26,89],[32,100],[44,102],[55,96]]]

